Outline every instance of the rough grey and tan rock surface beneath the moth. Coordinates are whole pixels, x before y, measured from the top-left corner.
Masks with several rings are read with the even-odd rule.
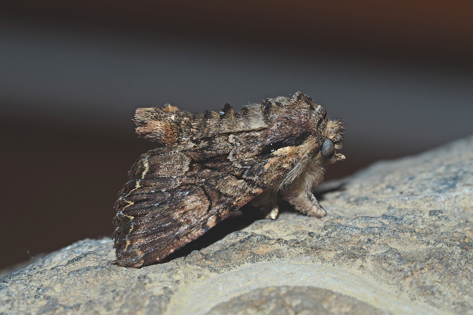
[[[141,269],[74,243],[4,277],[0,313],[473,314],[473,137],[321,196],[322,220],[284,212]]]

